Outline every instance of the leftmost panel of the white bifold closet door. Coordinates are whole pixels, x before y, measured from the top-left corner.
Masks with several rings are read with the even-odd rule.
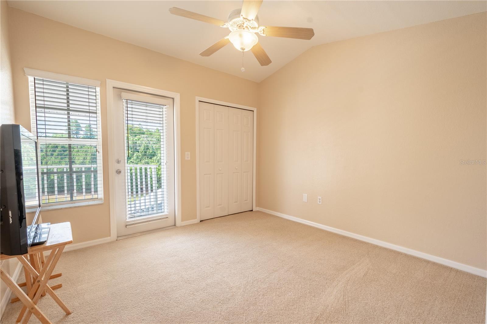
[[[213,218],[214,201],[214,105],[199,103],[200,220]]]

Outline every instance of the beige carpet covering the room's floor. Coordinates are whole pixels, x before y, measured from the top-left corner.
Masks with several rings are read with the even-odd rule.
[[[73,314],[42,297],[53,323],[485,323],[485,278],[262,212],[65,252],[56,270]]]

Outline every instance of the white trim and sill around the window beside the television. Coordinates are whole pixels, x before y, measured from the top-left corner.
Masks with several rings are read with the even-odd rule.
[[[60,74],[60,73],[54,73],[54,72],[47,72],[47,71],[41,71],[41,70],[36,70],[36,69],[30,69],[30,68],[24,68],[25,75],[27,77],[34,77],[34,78],[45,78],[45,79],[51,79],[51,80],[56,80],[56,81],[64,81],[64,82],[71,82],[71,83],[76,83],[76,84],[81,84],[85,86],[92,86],[97,88],[97,94],[98,94],[98,100],[97,100],[97,112],[96,116],[100,121],[100,133],[98,134],[99,138],[99,146],[100,146],[100,162],[97,164],[100,164],[100,167],[98,167],[98,179],[99,183],[101,185],[101,198],[93,198],[93,199],[83,199],[83,200],[71,200],[71,201],[59,201],[59,202],[51,202],[51,203],[42,203],[41,202],[41,208],[42,210],[54,210],[54,209],[64,209],[64,208],[72,208],[72,207],[81,207],[81,206],[89,206],[89,205],[98,205],[103,203],[103,198],[104,198],[104,190],[103,190],[103,150],[102,150],[102,139],[101,139],[101,104],[100,104],[100,85],[101,81],[99,80],[93,80],[93,79],[87,79],[87,78],[82,78],[78,76],[72,76],[72,75],[67,75],[67,74]],[[30,94],[29,94],[30,97]],[[29,98],[29,101],[30,98]],[[30,108],[31,108],[31,130],[36,130],[36,137],[37,137],[37,127],[33,126],[33,115],[32,115],[32,102],[29,103]],[[34,110],[35,110],[36,104],[34,103]],[[66,141],[68,142],[68,141]],[[39,147],[37,147],[39,149]],[[40,193],[39,193],[40,194]],[[31,213],[35,212],[37,210],[37,206],[34,207],[26,207],[26,213]]]

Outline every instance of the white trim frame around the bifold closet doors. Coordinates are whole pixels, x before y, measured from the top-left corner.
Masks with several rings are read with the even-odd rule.
[[[207,102],[209,104],[220,105],[220,106],[227,106],[233,108],[240,108],[245,110],[251,110],[254,112],[254,161],[253,161],[253,179],[252,179],[252,210],[255,210],[255,179],[257,174],[257,108],[248,107],[238,104],[232,104],[225,101],[215,100],[215,99],[208,99],[203,97],[196,97],[196,222],[200,221],[200,138],[199,138],[199,129],[200,129],[200,118],[199,118],[199,103],[200,101]]]

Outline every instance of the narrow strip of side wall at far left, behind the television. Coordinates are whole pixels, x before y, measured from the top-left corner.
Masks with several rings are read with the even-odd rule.
[[[8,5],[6,0],[0,1],[0,124],[15,123],[14,93],[12,90],[12,68],[10,56],[10,38],[8,28]],[[8,259],[1,261],[1,267],[13,275],[19,261]],[[7,286],[0,282],[0,300],[7,293]],[[8,290],[9,291],[9,290]],[[0,309],[3,312],[3,309]],[[1,314],[0,314],[1,317]]]

